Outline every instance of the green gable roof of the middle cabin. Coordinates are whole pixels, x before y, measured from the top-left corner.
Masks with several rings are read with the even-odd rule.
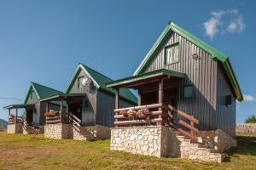
[[[78,77],[79,71],[81,70],[83,70],[90,77],[90,79],[96,84],[96,88],[104,92],[107,92],[109,94],[115,94],[115,91],[112,88],[107,88],[106,86],[106,83],[113,81],[111,78],[102,75],[102,73],[95,71],[90,67],[83,65],[82,63],[79,63],[76,71],[74,72],[73,77],[71,78],[71,81],[67,86],[66,94],[70,92],[73,86],[73,83],[75,82],[75,79],[76,77]],[[120,89],[119,94],[122,98],[129,100],[134,104],[137,104],[137,97],[131,93],[131,90]]]

